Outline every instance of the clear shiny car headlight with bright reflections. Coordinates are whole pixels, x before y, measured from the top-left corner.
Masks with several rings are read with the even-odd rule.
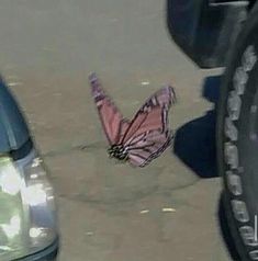
[[[53,186],[44,163],[31,152],[0,157],[0,260],[37,252],[57,237]]]

